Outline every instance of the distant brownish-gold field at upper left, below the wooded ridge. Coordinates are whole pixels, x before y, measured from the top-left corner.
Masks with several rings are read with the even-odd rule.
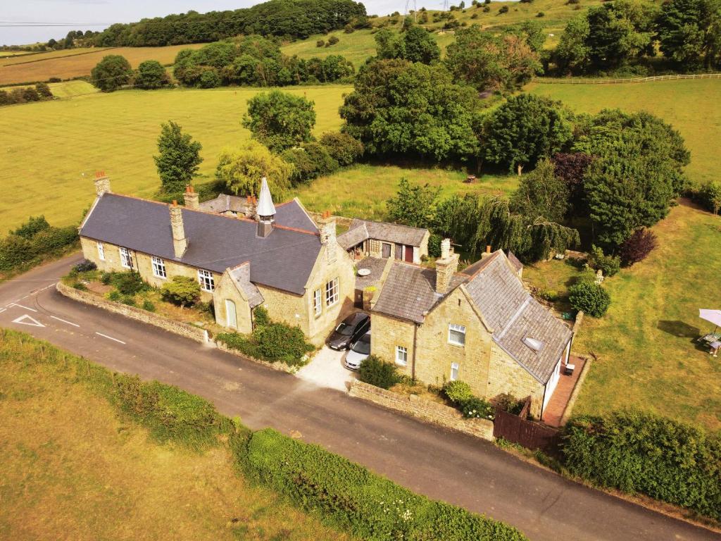
[[[71,79],[89,75],[102,57],[109,54],[125,56],[133,68],[144,60],[162,64],[173,63],[181,49],[197,49],[202,43],[169,45],[168,47],[118,47],[108,49],[66,49],[29,56],[0,59],[0,84],[47,81],[50,77]]]

